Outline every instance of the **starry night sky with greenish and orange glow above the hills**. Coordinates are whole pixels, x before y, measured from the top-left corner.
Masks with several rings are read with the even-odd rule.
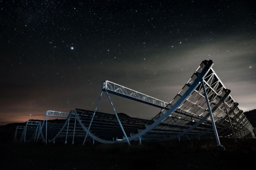
[[[253,1],[0,0],[0,125],[93,110],[113,81],[170,102],[204,59],[256,108]],[[111,95],[117,112],[160,109]],[[113,113],[103,94],[98,111]]]

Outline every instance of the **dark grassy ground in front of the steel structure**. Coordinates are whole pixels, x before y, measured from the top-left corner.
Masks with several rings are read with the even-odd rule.
[[[1,143],[1,170],[130,170],[255,168],[256,140],[133,142],[127,144],[13,144]],[[251,169],[251,168],[250,168]]]

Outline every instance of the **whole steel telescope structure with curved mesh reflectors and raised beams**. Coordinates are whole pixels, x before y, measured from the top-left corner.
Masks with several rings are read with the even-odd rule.
[[[212,66],[211,60],[203,61],[170,103],[111,81],[104,81],[94,111],[47,111],[44,121],[40,123],[40,130],[36,132],[36,142],[40,138],[46,144],[57,141],[85,144],[88,140],[93,143],[128,144],[132,140],[138,140],[141,144],[142,140],[190,140],[215,136],[216,144],[220,146],[220,138],[255,138],[252,125]],[[103,93],[106,93],[114,114],[97,111]],[[161,112],[150,120],[117,113],[109,93],[161,108]],[[65,122],[52,122],[49,125],[48,117],[65,118]],[[17,141],[17,131],[18,127],[14,141]],[[24,141],[25,136],[22,137]]]

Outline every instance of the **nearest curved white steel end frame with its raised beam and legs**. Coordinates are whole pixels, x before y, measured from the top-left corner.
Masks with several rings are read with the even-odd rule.
[[[93,122],[93,118],[92,118],[88,129],[86,127],[84,127],[83,125],[81,125],[84,128],[84,130],[87,132],[86,136],[85,136],[85,140],[86,140],[86,138],[87,138],[87,136],[89,134],[91,136],[91,138],[93,138],[94,140],[97,140],[99,142],[102,142],[102,143],[127,142],[129,144],[129,141],[135,140],[135,139],[138,139],[141,142],[141,136],[143,136],[144,134],[146,134],[147,132],[149,132],[153,128],[157,127],[157,125],[159,125],[160,123],[165,121],[165,119],[167,119],[167,117],[170,117],[175,110],[179,109],[179,106],[191,95],[192,91],[194,91],[195,88],[201,83],[202,84],[202,89],[204,90],[204,97],[206,99],[206,103],[207,103],[207,106],[208,106],[208,112],[209,113],[208,113],[208,115],[205,115],[200,121],[198,121],[194,126],[188,128],[187,130],[185,130],[185,132],[177,135],[176,137],[180,138],[181,135],[183,135],[183,134],[189,132],[190,130],[192,130],[193,128],[197,127],[198,125],[203,123],[206,119],[208,119],[208,117],[210,116],[210,119],[211,119],[211,122],[212,122],[212,126],[213,126],[213,130],[214,130],[214,134],[215,134],[215,137],[216,137],[217,146],[220,146],[220,140],[219,140],[218,132],[217,132],[217,129],[216,129],[214,117],[212,115],[212,109],[210,107],[207,91],[206,91],[206,88],[205,88],[205,84],[207,84],[207,81],[205,81],[205,79],[204,79],[206,74],[210,70],[213,72],[210,76],[216,76],[218,78],[218,76],[212,70],[212,65],[213,65],[213,62],[211,60],[206,63],[205,67],[202,68],[201,73],[198,73],[198,77],[194,81],[192,81],[191,84],[190,84],[190,82],[187,83],[187,85],[189,85],[189,88],[185,91],[185,93],[182,96],[180,96],[179,100],[177,100],[173,105],[169,105],[169,103],[163,102],[163,101],[155,99],[153,97],[149,97],[149,96],[147,96],[147,95],[145,95],[143,93],[139,93],[137,91],[133,91],[133,90],[127,88],[127,87],[123,87],[121,85],[117,85],[117,84],[115,84],[113,82],[110,82],[110,81],[103,82],[103,88],[102,88],[103,90],[102,91],[105,91],[107,93],[108,98],[109,98],[109,95],[108,95],[108,92],[109,92],[109,93],[116,94],[116,95],[119,95],[119,96],[122,96],[122,97],[126,97],[128,99],[133,99],[133,100],[136,100],[136,101],[147,103],[149,105],[155,105],[156,107],[163,107],[163,105],[164,105],[164,106],[168,106],[169,108],[164,108],[163,110],[165,110],[165,113],[163,113],[163,115],[161,117],[159,117],[159,119],[155,120],[155,122],[152,123],[151,125],[147,125],[145,129],[139,130],[137,134],[134,134],[131,137],[127,137],[125,135],[125,132],[124,132],[122,126],[121,126],[121,123],[119,123],[119,125],[122,128],[122,131],[123,131],[123,133],[125,135],[125,138],[126,138],[126,140],[121,140],[121,141],[101,140],[100,138],[98,138],[95,135],[93,135],[89,131],[90,127],[91,127],[91,123]],[[221,83],[222,84],[222,82],[220,80],[217,83]],[[210,85],[208,85],[208,86],[209,86],[209,88],[211,87]],[[224,88],[224,85],[222,84],[222,89],[223,88]],[[101,95],[102,95],[102,92],[101,92]],[[95,116],[95,113],[96,113],[97,107],[99,105],[99,100],[101,98],[101,95],[100,95],[100,97],[98,99],[98,102],[97,102],[97,105],[96,105],[93,117]],[[227,95],[226,95],[226,97],[227,97]],[[226,99],[226,97],[224,99]],[[110,98],[109,98],[109,101],[111,102]],[[221,103],[223,103],[223,99],[222,99]],[[220,104],[218,104],[218,106]],[[111,102],[111,106],[113,108],[113,103],[112,102]],[[218,106],[215,107],[215,109],[218,109]],[[115,108],[113,108],[113,110],[115,112]],[[116,112],[115,112],[115,114],[116,114]],[[229,118],[229,115],[228,115],[228,118]],[[117,116],[117,120],[119,120],[118,116]],[[80,120],[79,120],[79,122],[81,123]],[[85,140],[84,140],[83,144],[85,143]]]

